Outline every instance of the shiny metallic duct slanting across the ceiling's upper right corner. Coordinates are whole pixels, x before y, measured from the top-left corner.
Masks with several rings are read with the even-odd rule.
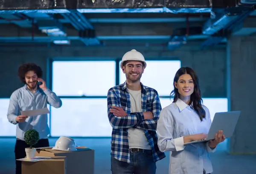
[[[222,10],[222,13],[218,13],[214,19],[205,22],[202,34],[211,36],[202,43],[201,47],[218,45],[234,31],[237,35],[242,35],[241,24],[254,11],[254,6],[252,3],[249,4],[249,1],[253,2],[253,0],[228,0],[229,4],[227,4],[223,0],[222,5],[226,4],[230,8]],[[242,2],[247,2],[247,4]],[[249,32],[253,33],[253,31],[254,28],[250,27]]]

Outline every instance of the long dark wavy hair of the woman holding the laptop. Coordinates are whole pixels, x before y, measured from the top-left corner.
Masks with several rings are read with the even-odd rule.
[[[178,82],[180,76],[183,74],[189,74],[194,82],[194,92],[190,96],[190,101],[189,101],[189,106],[192,104],[193,109],[198,113],[200,120],[202,121],[203,118],[205,118],[205,110],[201,105],[201,102],[203,102],[201,98],[201,91],[199,87],[199,79],[198,76],[196,75],[195,71],[192,70],[190,67],[181,67],[177,73],[175,74],[174,80],[173,80],[173,86],[174,90],[172,91],[170,97],[174,94],[174,100],[173,102],[176,102],[177,99],[179,98],[180,94],[178,92],[178,89],[175,87],[174,82]]]

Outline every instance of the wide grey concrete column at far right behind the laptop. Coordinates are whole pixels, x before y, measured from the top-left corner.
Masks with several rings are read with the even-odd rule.
[[[241,110],[230,154],[256,154],[256,37],[232,36],[227,42],[229,111]]]

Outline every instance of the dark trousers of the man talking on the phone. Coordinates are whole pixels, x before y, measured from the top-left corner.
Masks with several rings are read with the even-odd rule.
[[[15,143],[15,161],[16,161],[16,174],[21,174],[21,161],[16,159],[26,157],[25,148],[29,147],[23,140],[16,140]],[[37,144],[33,145],[33,148],[38,147],[49,147],[49,140],[48,139],[40,139]]]

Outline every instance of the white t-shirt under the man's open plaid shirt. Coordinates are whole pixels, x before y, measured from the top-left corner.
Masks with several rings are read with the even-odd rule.
[[[128,92],[130,94],[131,112],[141,112],[141,90],[134,91],[128,89]],[[151,149],[143,129],[129,128],[128,143],[130,149]]]

